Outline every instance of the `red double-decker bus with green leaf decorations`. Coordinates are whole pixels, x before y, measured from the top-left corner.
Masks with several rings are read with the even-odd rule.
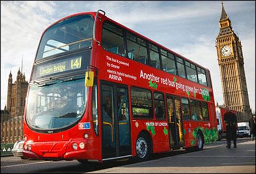
[[[209,70],[101,10],[45,30],[25,107],[29,159],[144,160],[217,140]]]

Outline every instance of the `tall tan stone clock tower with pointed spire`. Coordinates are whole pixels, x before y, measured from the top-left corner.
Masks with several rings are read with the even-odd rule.
[[[216,49],[220,67],[224,105],[240,112],[238,121],[248,120],[251,110],[245,79],[242,44],[234,33],[231,20],[223,3],[219,20],[220,32],[216,38]]]

